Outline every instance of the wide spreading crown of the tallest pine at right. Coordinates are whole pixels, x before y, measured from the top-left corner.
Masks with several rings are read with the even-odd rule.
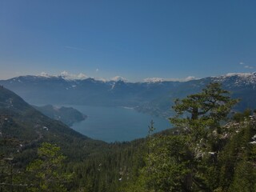
[[[230,98],[227,90],[222,90],[219,83],[213,82],[201,93],[191,94],[182,100],[176,99],[173,109],[177,115],[170,118],[170,122],[175,126],[193,126],[194,120],[201,120],[195,124],[219,126],[220,121],[226,119],[230,109],[237,102],[237,99]],[[190,117],[186,118],[182,115],[190,115]]]

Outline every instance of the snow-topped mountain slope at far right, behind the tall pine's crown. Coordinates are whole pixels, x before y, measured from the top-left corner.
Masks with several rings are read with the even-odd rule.
[[[173,114],[170,106],[174,105],[175,98],[184,98],[186,95],[201,91],[210,82],[221,82],[222,88],[229,90],[232,98],[240,98],[241,101],[234,110],[256,109],[256,74],[226,74],[219,77],[202,78],[189,82],[182,82],[174,90],[154,98],[138,106],[137,110],[170,117]]]

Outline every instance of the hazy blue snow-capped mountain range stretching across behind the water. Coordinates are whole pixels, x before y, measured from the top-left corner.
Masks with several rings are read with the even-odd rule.
[[[210,82],[222,82],[234,98],[237,109],[256,108],[256,74],[226,74],[188,82],[103,82],[94,78],[66,79],[62,76],[21,76],[0,81],[33,104],[133,106],[137,110],[168,117],[174,98],[196,93]]]

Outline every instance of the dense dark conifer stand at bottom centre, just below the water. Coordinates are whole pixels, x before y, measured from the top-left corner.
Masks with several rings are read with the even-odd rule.
[[[69,169],[74,170],[73,187],[85,191],[126,191],[130,182],[137,180],[144,166],[143,140],[114,142],[108,150],[102,150]]]

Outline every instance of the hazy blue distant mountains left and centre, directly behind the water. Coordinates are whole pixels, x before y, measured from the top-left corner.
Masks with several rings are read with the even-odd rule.
[[[66,80],[61,76],[21,76],[0,81],[0,85],[34,105],[137,106],[177,84],[179,82],[102,82],[94,78]]]

